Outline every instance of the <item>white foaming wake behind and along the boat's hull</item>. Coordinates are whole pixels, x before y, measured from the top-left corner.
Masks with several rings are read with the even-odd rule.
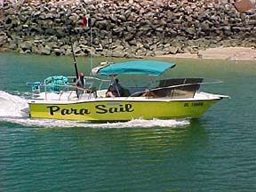
[[[190,124],[188,119],[170,119],[170,120],[144,120],[134,119],[128,122],[115,123],[91,123],[86,121],[70,121],[56,119],[30,119],[28,111],[28,101],[17,95],[0,91],[0,122],[20,124],[28,127],[44,128],[69,128],[69,127],[87,127],[87,128],[148,128],[148,127],[182,127]]]

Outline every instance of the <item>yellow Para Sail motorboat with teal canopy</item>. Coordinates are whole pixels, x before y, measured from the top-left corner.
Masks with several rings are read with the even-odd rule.
[[[134,60],[100,66],[92,71],[97,75],[114,78],[120,74],[160,76],[173,67],[175,64],[162,61]],[[92,82],[95,81],[99,88],[92,89]],[[33,90],[33,97],[28,100],[30,116],[86,121],[199,118],[212,104],[228,97],[200,92],[200,85],[205,84],[203,78],[161,79],[154,87],[150,87],[154,97],[143,96],[148,87],[144,85],[125,87],[129,92],[125,96],[107,98],[107,89],[102,88],[102,84],[109,85],[111,81],[96,76],[84,76],[86,89],[77,95],[77,90],[68,82],[68,77],[51,76],[44,83],[28,83]]]

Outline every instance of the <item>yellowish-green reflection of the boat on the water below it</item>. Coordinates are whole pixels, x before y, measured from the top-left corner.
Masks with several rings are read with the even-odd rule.
[[[179,121],[177,120],[177,122]],[[150,124],[150,121],[143,120],[143,124],[147,123]],[[108,128],[106,128],[106,124],[98,124],[98,127],[94,128],[36,128],[35,134],[52,133],[53,130],[53,132],[58,132],[58,135],[63,134],[64,137],[67,136],[64,139],[68,140],[69,144],[72,143],[71,146],[76,146],[76,150],[80,147],[83,147],[79,149],[82,151],[86,150],[86,148],[98,148],[101,151],[100,153],[111,150],[112,153],[116,154],[122,148],[124,151],[129,152],[129,154],[132,151],[140,151],[154,155],[160,152],[166,153],[168,150],[171,152],[174,148],[177,151],[182,151],[195,147],[207,147],[207,134],[200,121],[191,121],[190,124],[175,125],[175,127],[169,128],[160,126],[151,126],[149,128],[142,128],[140,126],[138,128],[136,126],[132,127],[131,123],[130,128],[119,129],[117,127],[120,124],[129,123],[117,124],[118,126],[113,123],[112,127]]]

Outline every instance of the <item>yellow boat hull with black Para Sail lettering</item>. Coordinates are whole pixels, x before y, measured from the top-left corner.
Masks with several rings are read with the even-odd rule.
[[[199,118],[221,98],[207,100],[79,100],[60,102],[31,100],[32,118],[86,121],[127,121],[131,119]]]

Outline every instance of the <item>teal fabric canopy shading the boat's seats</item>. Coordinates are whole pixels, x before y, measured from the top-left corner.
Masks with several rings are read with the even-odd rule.
[[[119,75],[119,74],[141,74],[159,76],[169,68],[174,68],[175,64],[157,60],[132,60],[111,64],[100,68],[100,75]]]

